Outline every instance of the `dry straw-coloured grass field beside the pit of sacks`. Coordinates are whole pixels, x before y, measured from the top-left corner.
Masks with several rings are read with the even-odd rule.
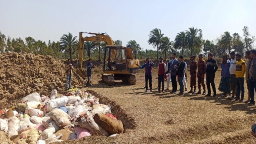
[[[124,123],[129,127],[135,123],[135,128],[126,129],[125,133],[115,138],[92,136],[82,140],[66,141],[64,144],[254,144],[251,134],[252,122],[256,121],[255,106],[234,102],[217,97],[187,94],[176,96],[157,93],[158,80],[156,70],[153,74],[154,92],[144,92],[144,74],[136,74],[136,85],[126,85],[116,82],[114,86],[106,86],[101,77],[92,75],[93,90],[102,98],[108,98],[114,104],[120,105],[122,112],[127,114],[132,122]],[[190,75],[188,74],[188,90],[190,90]],[[220,70],[216,72],[215,85],[220,82]],[[165,82],[166,86],[166,82]],[[245,98],[248,90],[245,82]],[[172,89],[170,87],[170,89]],[[179,89],[179,87],[178,87]]]

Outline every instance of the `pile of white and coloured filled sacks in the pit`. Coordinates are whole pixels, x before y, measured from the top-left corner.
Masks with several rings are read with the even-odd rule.
[[[49,144],[85,136],[116,136],[123,124],[110,106],[86,91],[70,89],[64,95],[52,90],[49,97],[32,93],[16,107],[0,111],[0,130],[17,143]]]

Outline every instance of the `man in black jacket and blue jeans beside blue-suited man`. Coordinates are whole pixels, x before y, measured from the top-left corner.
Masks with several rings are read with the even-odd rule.
[[[178,96],[182,96],[184,94],[184,85],[183,85],[183,78],[184,78],[184,68],[185,68],[185,62],[183,60],[183,56],[179,56],[179,61],[177,65],[175,65],[175,68],[177,69],[177,75],[178,75],[178,80],[180,84],[180,93]]]

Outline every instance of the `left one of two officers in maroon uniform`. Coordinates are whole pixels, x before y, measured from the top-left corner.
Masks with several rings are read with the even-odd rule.
[[[190,88],[191,90],[188,93],[195,94],[196,93],[196,69],[198,66],[198,63],[195,60],[196,56],[191,56],[190,57],[190,68],[189,68],[189,73],[190,73]],[[194,91],[193,91],[194,87]]]

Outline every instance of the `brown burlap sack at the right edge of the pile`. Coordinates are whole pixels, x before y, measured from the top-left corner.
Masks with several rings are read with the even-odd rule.
[[[94,121],[111,135],[122,134],[124,132],[124,126],[121,120],[115,120],[106,115],[95,114]]]

